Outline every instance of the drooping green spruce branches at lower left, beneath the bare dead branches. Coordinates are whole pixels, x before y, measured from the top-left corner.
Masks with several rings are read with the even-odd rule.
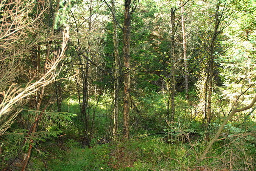
[[[27,110],[22,112],[22,119],[27,120],[27,122],[31,124],[34,124],[33,120],[36,116],[38,117],[38,111]],[[39,123],[38,131],[34,133],[29,133],[27,129],[20,129],[19,123],[14,124],[12,128],[1,137],[1,148],[5,151],[5,154],[0,155],[0,159],[3,159],[2,162],[0,162],[0,166],[3,166],[6,161],[12,160],[20,149],[27,151],[30,145],[34,147],[37,155],[47,157],[49,153],[40,149],[41,143],[56,138],[61,134],[59,126],[66,126],[67,123],[72,121],[71,118],[74,116],[76,115],[67,112],[46,112],[41,116],[41,119],[47,120],[47,122],[43,125]],[[31,142],[31,140],[33,140],[33,142]]]

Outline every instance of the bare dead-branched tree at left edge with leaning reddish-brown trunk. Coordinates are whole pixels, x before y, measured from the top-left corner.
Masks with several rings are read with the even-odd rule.
[[[69,3],[67,3],[68,5]],[[3,75],[0,75],[0,136],[8,135],[6,130],[16,119],[17,115],[22,111],[28,99],[35,96],[35,108],[39,112],[43,100],[45,86],[56,81],[59,72],[61,71],[61,60],[65,57],[67,40],[69,39],[69,30],[63,32],[61,48],[52,55],[52,59],[46,58],[44,73],[41,72],[41,46],[47,40],[52,40],[52,35],[45,35],[42,30],[44,24],[44,13],[49,7],[48,2],[44,1],[3,1],[0,4],[1,14],[1,42],[0,42],[0,70]],[[36,11],[36,12],[35,12]],[[54,25],[54,24],[53,24]],[[50,51],[48,51],[50,54]],[[25,73],[23,70],[27,66],[28,58],[36,61],[34,68],[30,73]],[[13,60],[12,62],[11,59]],[[10,70],[12,69],[12,71]],[[2,73],[1,71],[1,73]],[[11,73],[11,74],[10,74]],[[28,81],[18,85],[16,78],[22,77],[22,74],[28,76]],[[31,77],[31,75],[34,75]],[[28,140],[30,145],[28,153],[24,157],[23,168],[25,170],[30,159],[34,137],[33,134],[37,130],[40,115],[36,115],[28,135],[22,143],[18,153],[21,153],[23,145]],[[30,136],[31,135],[31,136]],[[15,159],[14,159],[15,160]],[[14,160],[10,160],[5,170],[11,165]]]

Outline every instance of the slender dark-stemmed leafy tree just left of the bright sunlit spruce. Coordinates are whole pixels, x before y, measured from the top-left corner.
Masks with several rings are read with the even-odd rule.
[[[221,46],[220,42],[225,39],[223,30],[229,26],[234,20],[236,11],[232,5],[233,1],[215,1],[207,3],[209,16],[214,16],[214,20],[209,17],[207,20],[202,21],[204,23],[201,26],[200,42],[201,45],[200,54],[202,60],[201,76],[198,80],[201,88],[200,103],[203,105],[204,120],[206,122],[206,129],[211,123],[212,119],[212,94],[214,88],[214,75],[218,71],[216,68],[216,59],[225,52],[227,47]],[[202,10],[205,10],[204,8]],[[215,80],[217,77],[215,77]],[[206,133],[206,139],[209,138],[209,134]]]

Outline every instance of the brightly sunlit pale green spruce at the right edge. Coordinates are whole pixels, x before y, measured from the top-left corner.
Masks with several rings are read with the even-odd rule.
[[[221,91],[223,96],[233,103],[240,92],[240,85],[250,86],[256,81],[256,55],[254,54],[256,23],[253,16],[254,7],[248,2],[234,3],[237,17],[224,31],[228,39],[221,42],[222,46],[229,47],[220,55],[220,75],[223,79]],[[253,93],[253,91],[251,92]],[[245,98],[248,98],[245,95]]]

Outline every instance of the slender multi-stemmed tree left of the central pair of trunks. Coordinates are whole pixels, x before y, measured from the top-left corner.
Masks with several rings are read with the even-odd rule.
[[[95,110],[90,111],[91,95],[100,98],[99,85],[102,84],[103,74],[108,74],[104,68],[104,33],[106,18],[101,14],[103,3],[87,0],[73,6],[68,20],[75,34],[71,35],[70,62],[78,93],[80,119],[83,122],[84,144],[90,146],[93,136]],[[95,105],[96,108],[97,104]],[[90,115],[92,114],[92,115]]]

